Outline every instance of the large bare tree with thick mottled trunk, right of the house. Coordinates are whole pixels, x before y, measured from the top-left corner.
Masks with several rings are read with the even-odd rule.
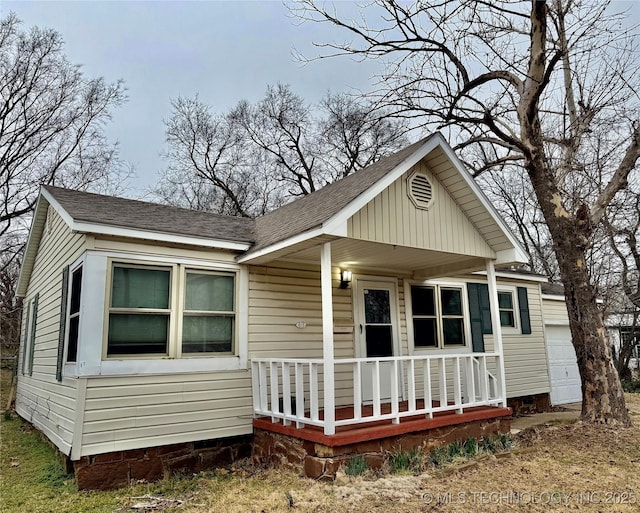
[[[448,131],[465,161],[482,159],[476,174],[526,173],[564,285],[582,419],[630,424],[586,265],[640,157],[637,33],[609,3],[378,0],[347,20],[305,0],[294,12],[349,33],[346,44],[321,44],[325,56],[383,59],[381,101]]]

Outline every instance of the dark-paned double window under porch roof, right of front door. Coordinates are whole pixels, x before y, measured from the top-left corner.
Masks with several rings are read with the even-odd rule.
[[[462,288],[411,287],[415,347],[465,345]]]

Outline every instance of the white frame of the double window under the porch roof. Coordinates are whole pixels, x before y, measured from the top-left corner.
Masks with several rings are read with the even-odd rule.
[[[432,287],[435,289],[435,300],[436,300],[436,324],[438,330],[438,346],[426,347],[426,346],[416,346],[415,345],[415,337],[413,332],[413,305],[411,299],[411,287]],[[463,335],[464,335],[464,345],[444,345],[444,334],[443,334],[443,323],[442,320],[445,317],[442,315],[442,305],[441,305],[441,289],[459,289],[461,294],[461,308],[462,308],[462,326],[463,326]],[[405,297],[405,316],[406,316],[406,324],[407,324],[407,337],[408,337],[408,347],[410,354],[425,354],[425,353],[433,353],[438,352],[438,354],[457,354],[457,353],[470,353],[472,352],[471,348],[471,322],[469,319],[469,302],[467,295],[467,285],[465,282],[457,282],[457,281],[413,281],[406,280],[404,283],[404,297]],[[458,318],[458,316],[455,316]]]

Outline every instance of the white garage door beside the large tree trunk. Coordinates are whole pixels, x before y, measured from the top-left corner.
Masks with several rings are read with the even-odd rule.
[[[571,344],[569,326],[545,326],[549,377],[551,379],[551,404],[567,404],[582,401],[580,372],[576,352]]]

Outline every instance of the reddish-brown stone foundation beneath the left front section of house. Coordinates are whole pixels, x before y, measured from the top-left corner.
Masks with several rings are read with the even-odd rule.
[[[226,466],[251,454],[252,436],[83,456],[73,462],[81,490],[112,490],[133,481]]]

